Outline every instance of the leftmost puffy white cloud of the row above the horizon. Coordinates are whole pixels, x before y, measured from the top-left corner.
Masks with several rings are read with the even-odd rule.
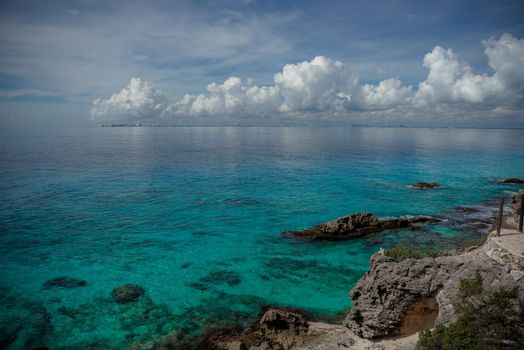
[[[127,87],[109,99],[96,99],[90,114],[95,120],[147,120],[164,116],[166,107],[167,98],[161,90],[149,82],[132,78]]]

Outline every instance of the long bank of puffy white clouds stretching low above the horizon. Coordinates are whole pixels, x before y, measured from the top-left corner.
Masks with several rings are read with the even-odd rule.
[[[230,77],[211,83],[207,92],[178,99],[151,83],[131,79],[108,99],[96,99],[93,120],[141,121],[184,118],[326,118],[373,115],[479,114],[523,111],[524,39],[510,34],[483,41],[492,74],[477,74],[452,49],[437,46],[426,53],[426,79],[417,87],[398,78],[362,84],[340,61],[317,56],[286,64],[273,85],[258,86],[253,79]]]

